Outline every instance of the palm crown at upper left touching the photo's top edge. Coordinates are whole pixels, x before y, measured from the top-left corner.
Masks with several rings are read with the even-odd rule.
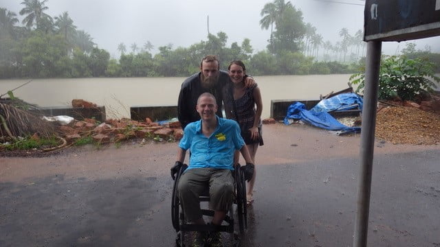
[[[22,23],[25,24],[26,27],[31,28],[32,25],[35,24],[36,29],[39,29],[41,19],[47,18],[52,21],[52,17],[43,12],[48,9],[45,6],[46,1],[47,0],[24,0],[23,2],[21,2],[21,4],[25,5],[25,7],[20,10],[20,14],[28,14],[22,21]]]

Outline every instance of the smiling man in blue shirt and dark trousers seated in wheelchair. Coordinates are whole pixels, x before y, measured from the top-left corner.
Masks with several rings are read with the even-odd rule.
[[[201,213],[199,196],[209,187],[210,207],[214,217],[210,224],[220,226],[234,200],[234,153],[240,150],[246,165],[242,167],[245,180],[254,173],[254,164],[240,135],[236,121],[217,117],[214,95],[203,93],[197,99],[200,120],[186,126],[179,143],[177,161],[171,168],[171,176],[179,172],[186,150],[190,150],[190,165],[179,178],[177,196],[187,220],[193,224],[206,224]],[[221,246],[220,233],[197,232],[193,246]]]

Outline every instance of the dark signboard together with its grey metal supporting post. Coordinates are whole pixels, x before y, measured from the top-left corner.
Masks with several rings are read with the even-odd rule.
[[[366,0],[364,108],[360,146],[358,200],[353,246],[366,246],[373,174],[377,88],[382,41],[401,41],[440,35],[440,0]]]

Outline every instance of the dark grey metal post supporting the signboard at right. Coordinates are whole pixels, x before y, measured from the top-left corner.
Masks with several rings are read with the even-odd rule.
[[[371,174],[381,50],[382,41],[371,41],[366,47],[364,106],[362,108],[362,132],[360,136],[360,172],[358,176],[358,201],[353,247],[366,246],[366,235],[369,228]]]

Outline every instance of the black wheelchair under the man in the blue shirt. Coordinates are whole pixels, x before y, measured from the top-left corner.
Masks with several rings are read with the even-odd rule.
[[[173,185],[173,198],[171,201],[171,218],[173,221],[173,228],[177,233],[176,237],[176,246],[185,246],[185,235],[190,231],[220,231],[230,233],[230,240],[233,246],[240,246],[239,242],[239,234],[243,235],[245,228],[248,228],[248,211],[246,209],[246,181],[243,169],[238,164],[234,168],[232,172],[232,176],[234,177],[234,201],[232,202],[232,207],[226,213],[225,219],[221,226],[213,226],[213,225],[197,225],[197,224],[189,224],[185,219],[185,215],[183,211],[181,211],[181,203],[179,202],[179,197],[177,196],[177,185],[179,183],[179,178],[181,174],[184,173],[185,169],[188,165],[184,164],[180,168],[179,172],[177,172],[176,178],[174,180]],[[203,193],[202,196],[199,196],[200,202],[209,202],[209,193],[208,188],[206,193]],[[238,225],[239,225],[239,234],[234,231],[234,207],[236,207],[236,216],[238,217]],[[201,209],[203,217],[214,216],[214,211],[211,209]]]

